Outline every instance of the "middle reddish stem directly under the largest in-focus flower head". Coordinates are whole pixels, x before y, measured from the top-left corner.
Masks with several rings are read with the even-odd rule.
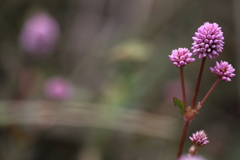
[[[194,91],[194,96],[193,96],[193,100],[192,100],[192,105],[191,105],[192,109],[194,109],[195,104],[196,104],[198,90],[199,90],[200,82],[201,82],[201,79],[202,79],[202,73],[203,73],[205,61],[206,61],[206,57],[204,57],[202,59],[201,67],[200,67],[200,70],[199,70],[199,73],[198,73],[198,79],[197,79],[197,83],[196,83],[196,87],[195,87],[195,91]]]

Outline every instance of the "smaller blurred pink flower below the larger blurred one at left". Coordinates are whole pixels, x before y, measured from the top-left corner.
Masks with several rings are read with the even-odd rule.
[[[49,99],[68,100],[73,96],[73,86],[61,77],[53,77],[46,82],[44,92]]]

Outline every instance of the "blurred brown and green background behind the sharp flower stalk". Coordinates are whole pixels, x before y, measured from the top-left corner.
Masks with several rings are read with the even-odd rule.
[[[168,55],[216,22],[216,60],[238,75],[239,16],[239,0],[0,0],[0,159],[174,160],[183,120]],[[200,62],[184,68],[189,104]],[[190,125],[208,134],[208,160],[240,159],[239,91],[238,77],[220,82]]]

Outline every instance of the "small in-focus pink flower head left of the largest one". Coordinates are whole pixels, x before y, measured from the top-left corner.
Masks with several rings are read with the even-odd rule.
[[[186,66],[188,63],[195,61],[192,57],[192,53],[187,48],[178,48],[172,51],[172,54],[168,56],[173,62],[173,65],[180,68]]]

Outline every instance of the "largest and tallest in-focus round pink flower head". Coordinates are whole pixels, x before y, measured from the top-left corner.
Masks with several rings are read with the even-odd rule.
[[[205,22],[204,25],[198,28],[195,37],[192,39],[194,42],[191,49],[193,54],[200,59],[203,57],[214,59],[223,50],[223,32],[217,23]]]

